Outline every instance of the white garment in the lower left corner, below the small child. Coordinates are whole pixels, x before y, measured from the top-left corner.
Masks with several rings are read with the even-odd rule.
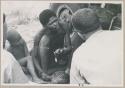
[[[24,74],[21,66],[6,50],[1,57],[1,83],[28,83],[29,79]]]

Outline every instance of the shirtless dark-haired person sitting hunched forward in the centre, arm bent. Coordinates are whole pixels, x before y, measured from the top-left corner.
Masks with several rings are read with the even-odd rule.
[[[57,55],[71,50],[70,37],[66,32],[69,25],[66,25],[67,22],[59,21],[56,14],[49,9],[44,10],[39,19],[43,29],[35,37],[32,56],[38,75],[44,80],[50,80],[49,69],[59,66],[55,62],[54,52]],[[67,38],[65,47],[64,38]]]

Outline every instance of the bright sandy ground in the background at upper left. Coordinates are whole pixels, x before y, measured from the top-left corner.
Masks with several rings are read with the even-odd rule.
[[[6,14],[8,29],[17,30],[26,41],[29,51],[33,46],[33,38],[42,29],[39,14],[49,8],[48,2],[34,1],[2,1],[2,12]]]

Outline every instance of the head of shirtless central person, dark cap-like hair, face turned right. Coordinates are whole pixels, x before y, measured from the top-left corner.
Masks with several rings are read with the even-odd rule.
[[[54,31],[55,33],[63,32],[59,25],[59,19],[56,17],[56,14],[52,10],[46,9],[40,13],[39,20],[44,27],[50,29],[51,31]]]

